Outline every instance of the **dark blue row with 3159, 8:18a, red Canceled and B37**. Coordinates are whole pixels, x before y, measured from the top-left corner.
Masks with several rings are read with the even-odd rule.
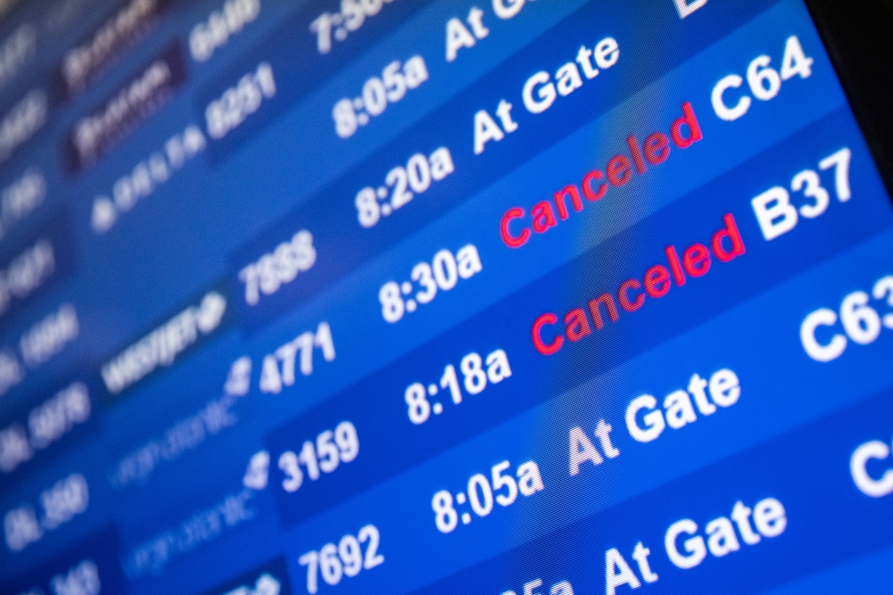
[[[871,200],[871,185],[856,181],[860,167],[869,163],[864,153],[856,153],[852,171],[861,200],[833,203],[821,218],[777,241],[764,239],[750,197],[727,190],[754,171],[793,171],[791,163],[808,162],[805,153],[814,152],[816,143],[846,145],[845,137],[835,134],[844,128],[839,117],[714,179],[271,433],[267,442],[274,461],[285,451],[299,452],[305,441],[334,431],[344,420],[353,423],[363,445],[361,454],[337,473],[295,492],[277,491],[283,525],[348,500],[889,228],[886,204]],[[718,249],[717,235],[722,238]],[[714,244],[707,255],[709,269],[683,276],[680,285],[680,279],[670,278],[667,246],[681,254],[695,244]],[[655,265],[667,278],[657,287],[659,293],[649,293],[643,277]],[[593,306],[593,300],[601,301]],[[537,326],[543,312],[560,316]],[[545,350],[544,342],[561,349]],[[494,383],[492,377],[505,374],[497,355],[492,365],[486,361],[497,350],[505,352],[511,376]],[[479,354],[480,363],[469,360],[465,367],[492,368],[492,377],[480,393],[474,393],[479,389],[473,378],[459,387],[457,403],[441,378],[452,364],[457,381],[465,382],[470,375],[463,375],[462,361],[471,353]],[[427,395],[410,396],[410,386],[418,382]],[[413,412],[408,404],[424,400],[430,407],[439,403],[442,415],[440,408],[427,413],[429,406],[423,404]],[[405,448],[395,451],[396,436]],[[279,482],[285,475],[274,470],[272,477]]]

